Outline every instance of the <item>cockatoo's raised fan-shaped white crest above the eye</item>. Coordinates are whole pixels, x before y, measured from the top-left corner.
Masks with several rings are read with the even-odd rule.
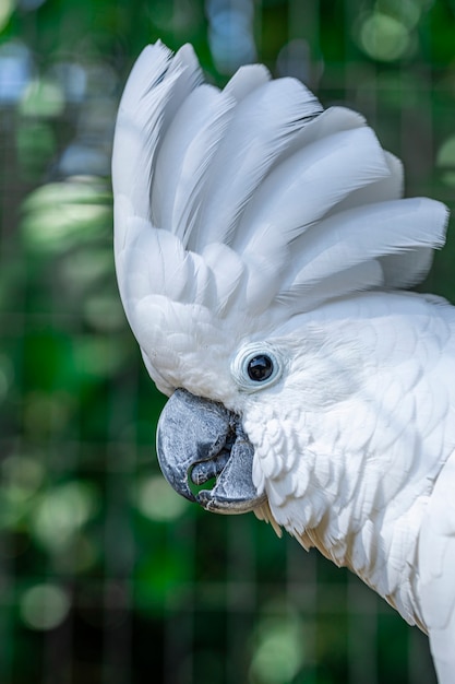
[[[191,308],[145,326],[154,297],[206,307],[235,346],[330,299],[415,284],[447,219],[438,202],[399,199],[400,162],[360,115],[322,111],[259,64],[218,91],[190,46],[172,57],[159,43],[125,86],[112,184],[123,305],[161,375],[166,330],[199,353],[204,333]]]

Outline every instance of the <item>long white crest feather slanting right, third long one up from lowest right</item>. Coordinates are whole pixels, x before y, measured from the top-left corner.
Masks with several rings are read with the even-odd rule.
[[[209,169],[191,249],[197,251],[208,241],[229,243],[242,210],[272,164],[320,111],[314,96],[294,79],[264,83],[238,104]]]

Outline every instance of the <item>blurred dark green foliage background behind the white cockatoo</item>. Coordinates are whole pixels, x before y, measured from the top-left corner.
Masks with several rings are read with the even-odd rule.
[[[142,47],[264,61],[363,113],[454,208],[455,0],[0,0],[1,684],[432,684],[427,639],[253,515],[161,479],[164,398],[111,253],[116,108]],[[455,229],[424,288],[455,302]]]

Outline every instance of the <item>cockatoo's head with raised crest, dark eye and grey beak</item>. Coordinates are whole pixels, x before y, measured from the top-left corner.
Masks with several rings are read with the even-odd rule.
[[[165,476],[218,512],[278,505],[297,460],[309,487],[304,416],[366,373],[352,311],[362,293],[427,273],[444,208],[400,199],[400,163],[358,114],[324,111],[258,64],[219,91],[190,46],[172,56],[159,43],[127,84],[112,180],[123,306],[170,396],[157,434]]]

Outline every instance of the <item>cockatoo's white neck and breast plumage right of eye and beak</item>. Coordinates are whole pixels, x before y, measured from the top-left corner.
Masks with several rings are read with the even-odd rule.
[[[368,293],[321,307],[300,330],[303,343],[287,341],[288,377],[299,378],[289,400],[271,393],[243,413],[254,482],[267,491],[264,517],[424,625],[419,554],[432,549],[419,547],[419,535],[455,444],[455,388],[444,391],[455,373],[455,310]]]

